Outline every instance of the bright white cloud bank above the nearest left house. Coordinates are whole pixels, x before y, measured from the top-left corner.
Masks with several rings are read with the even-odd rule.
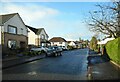
[[[34,4],[14,4],[14,3],[4,3],[3,14],[8,13],[19,13],[23,21],[27,24],[43,20],[52,16],[56,16],[60,12],[53,8],[48,8],[45,6],[34,5]]]

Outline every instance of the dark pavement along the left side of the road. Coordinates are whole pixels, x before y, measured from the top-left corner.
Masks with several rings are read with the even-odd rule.
[[[2,59],[2,69],[13,67],[13,66],[20,65],[20,64],[24,64],[27,62],[31,62],[31,61],[38,60],[38,59],[41,59],[44,57],[45,57],[45,54],[41,54],[41,55],[33,56],[33,57],[30,57],[30,56],[7,57],[7,58]]]

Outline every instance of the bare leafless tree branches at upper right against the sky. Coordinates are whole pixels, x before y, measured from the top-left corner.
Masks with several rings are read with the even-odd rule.
[[[87,24],[91,31],[101,32],[110,37],[120,37],[120,1],[107,5],[96,5],[99,9],[91,11]]]

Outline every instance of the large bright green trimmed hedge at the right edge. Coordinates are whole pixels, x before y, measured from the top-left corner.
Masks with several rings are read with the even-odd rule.
[[[109,41],[105,47],[110,59],[120,65],[120,37]]]

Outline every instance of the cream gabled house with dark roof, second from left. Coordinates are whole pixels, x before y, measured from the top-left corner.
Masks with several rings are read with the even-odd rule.
[[[26,25],[28,27],[28,45],[35,46],[48,46],[50,42],[48,41],[48,34],[46,33],[44,28],[33,28],[31,26]]]

